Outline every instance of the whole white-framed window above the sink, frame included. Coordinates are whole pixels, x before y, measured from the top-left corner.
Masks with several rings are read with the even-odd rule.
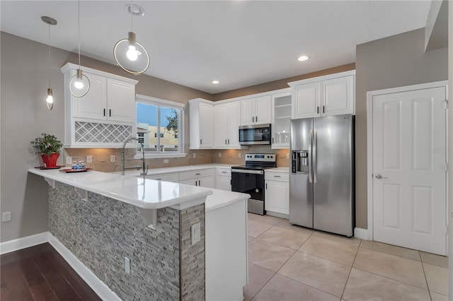
[[[180,157],[183,149],[184,105],[137,95],[137,136],[149,157]],[[142,139],[142,140],[140,140]],[[138,154],[137,154],[138,155]]]

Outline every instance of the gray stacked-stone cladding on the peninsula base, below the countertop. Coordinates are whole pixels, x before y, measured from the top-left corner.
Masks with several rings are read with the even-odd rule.
[[[50,232],[122,300],[205,300],[205,204],[157,209],[156,230],[139,209],[55,182]],[[190,226],[201,225],[191,245]],[[125,272],[125,257],[130,273]]]

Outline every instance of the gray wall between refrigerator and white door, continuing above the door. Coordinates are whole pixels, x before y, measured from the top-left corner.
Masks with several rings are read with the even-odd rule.
[[[425,29],[356,47],[356,223],[367,229],[367,91],[447,80],[447,48],[424,52]]]

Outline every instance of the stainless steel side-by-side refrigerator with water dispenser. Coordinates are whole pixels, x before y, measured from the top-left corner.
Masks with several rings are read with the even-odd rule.
[[[291,120],[289,223],[352,237],[354,116]]]

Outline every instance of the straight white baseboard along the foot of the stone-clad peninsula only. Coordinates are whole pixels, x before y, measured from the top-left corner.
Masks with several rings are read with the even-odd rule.
[[[102,300],[119,300],[121,298],[118,297],[115,293],[113,293],[110,288],[108,288],[105,283],[103,283],[89,268],[87,268],[77,257],[64,247],[64,244],[59,242],[55,236],[49,233],[49,243],[52,244],[57,252],[62,255],[65,261],[74,268],[74,271],[79,274],[80,278],[84,279],[86,284],[90,288],[94,290],[94,292],[102,299]]]

